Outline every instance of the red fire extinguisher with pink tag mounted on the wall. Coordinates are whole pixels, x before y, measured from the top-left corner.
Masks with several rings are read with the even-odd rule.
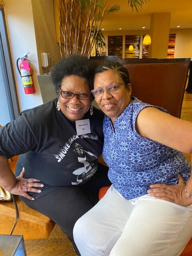
[[[28,62],[26,61],[26,59],[32,60],[32,59],[27,57],[27,55],[29,53],[30,52],[28,52],[26,54],[23,54],[22,57],[17,59],[17,68],[18,68],[18,71],[19,71],[20,76],[22,78],[25,94],[35,93],[35,88],[34,88],[34,82],[33,82],[33,78],[32,78],[31,68],[30,68]],[[18,61],[19,60],[21,60],[21,63],[18,66]]]

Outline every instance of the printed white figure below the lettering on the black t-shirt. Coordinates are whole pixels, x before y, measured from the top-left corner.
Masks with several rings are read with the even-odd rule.
[[[94,165],[93,161],[97,159],[97,156],[84,150],[79,143],[74,144],[74,152],[78,154],[78,162],[84,164],[84,167],[78,168],[73,172],[77,176],[77,180],[76,182],[71,182],[71,184],[77,185],[94,175],[97,166]]]

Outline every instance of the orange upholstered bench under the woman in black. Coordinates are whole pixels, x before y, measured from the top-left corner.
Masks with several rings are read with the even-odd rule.
[[[15,171],[18,156],[10,158],[9,164],[12,172]],[[23,235],[24,239],[48,238],[55,223],[40,212],[26,206],[19,196],[16,196],[19,218],[13,234]],[[0,234],[10,234],[16,217],[13,202],[0,201]]]

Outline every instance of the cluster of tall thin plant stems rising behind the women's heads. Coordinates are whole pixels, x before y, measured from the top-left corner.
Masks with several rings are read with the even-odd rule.
[[[80,50],[79,46],[81,46],[81,55],[87,54],[90,57],[104,15],[120,10],[120,6],[117,4],[110,9],[107,9],[106,5],[107,0],[58,0],[61,56],[61,38],[63,38],[65,56],[77,54]],[[85,26],[85,30],[83,30],[83,26]],[[96,30],[96,28],[98,29]],[[95,37],[90,40],[92,32]],[[81,38],[83,38],[83,42],[80,42]]]

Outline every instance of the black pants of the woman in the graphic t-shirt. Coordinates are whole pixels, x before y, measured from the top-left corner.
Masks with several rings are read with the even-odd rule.
[[[22,167],[22,161],[18,159],[16,176],[20,174]],[[40,194],[29,193],[35,198],[34,201],[22,196],[20,198],[30,208],[48,216],[60,226],[72,242],[76,253],[80,255],[74,244],[73,227],[75,222],[98,202],[100,188],[111,185],[107,173],[108,168],[98,163],[98,170],[86,184],[66,187],[48,186],[47,188],[44,186]]]

